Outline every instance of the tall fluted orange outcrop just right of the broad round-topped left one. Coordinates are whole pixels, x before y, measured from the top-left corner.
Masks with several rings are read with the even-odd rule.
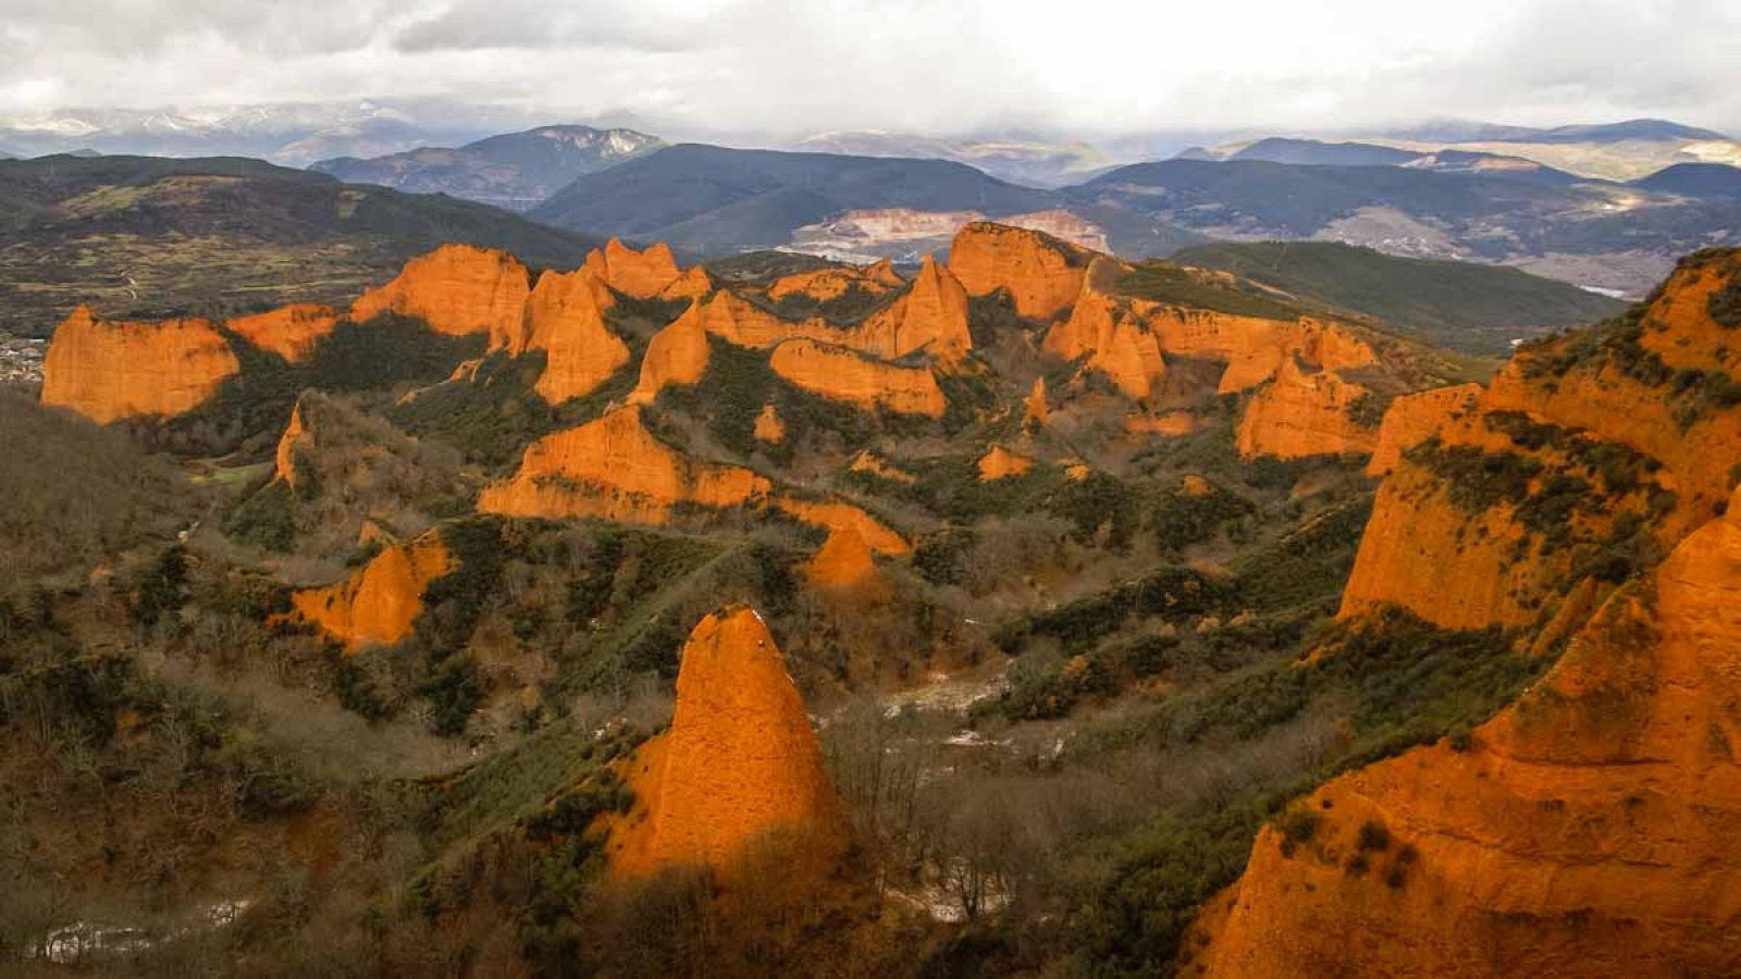
[[[512,354],[545,352],[545,369],[533,385],[561,404],[592,394],[629,362],[629,345],[604,322],[615,300],[592,272],[545,272],[526,300],[522,338]]]

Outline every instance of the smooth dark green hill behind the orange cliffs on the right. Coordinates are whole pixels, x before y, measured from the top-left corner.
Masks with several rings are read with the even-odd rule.
[[[1469,354],[1616,315],[1626,303],[1516,268],[1396,258],[1337,242],[1187,247],[1179,265],[1233,272],[1316,305],[1402,326]]]

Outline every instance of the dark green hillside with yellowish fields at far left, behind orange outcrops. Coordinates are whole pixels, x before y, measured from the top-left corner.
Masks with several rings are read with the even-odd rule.
[[[592,240],[442,195],[339,183],[240,157],[0,162],[0,329],[103,315],[343,303],[442,242],[576,267]]]

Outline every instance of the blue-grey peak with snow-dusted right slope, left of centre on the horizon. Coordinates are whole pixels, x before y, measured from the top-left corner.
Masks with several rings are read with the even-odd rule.
[[[369,160],[338,157],[308,169],[350,183],[447,193],[508,211],[529,211],[581,174],[609,169],[663,145],[660,138],[634,129],[541,125],[453,150],[425,146]]]

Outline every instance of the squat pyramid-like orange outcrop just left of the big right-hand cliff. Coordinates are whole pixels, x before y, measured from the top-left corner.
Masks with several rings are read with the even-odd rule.
[[[1290,357],[1276,378],[1245,406],[1234,444],[1245,458],[1367,455],[1379,434],[1356,406],[1370,392],[1335,371],[1306,373]]]

